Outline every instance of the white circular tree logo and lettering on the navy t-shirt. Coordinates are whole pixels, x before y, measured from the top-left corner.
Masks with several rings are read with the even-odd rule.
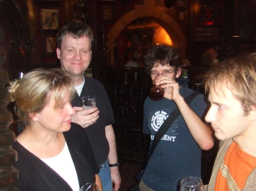
[[[154,131],[154,133],[152,133],[152,130],[151,130],[151,136],[150,136],[151,140],[155,138],[156,132],[159,130],[159,128],[165,122],[168,116],[169,115],[165,111],[157,111],[152,115],[151,128]],[[171,127],[167,130],[167,132],[165,133],[165,135],[162,137],[161,140],[175,142],[176,135],[178,134],[176,132],[177,127],[178,127],[177,124],[174,122],[173,125],[171,125]]]

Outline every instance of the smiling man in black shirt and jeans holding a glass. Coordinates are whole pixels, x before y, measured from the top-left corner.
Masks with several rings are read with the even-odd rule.
[[[98,80],[84,76],[91,61],[93,41],[92,29],[88,25],[81,21],[72,21],[59,30],[56,52],[61,61],[61,69],[67,72],[76,89],[75,97],[71,102],[76,113],[72,115],[71,120],[81,125],[88,135],[100,167],[99,176],[103,191],[112,191],[112,189],[117,191],[121,177],[112,127],[115,119],[111,103],[104,86]],[[97,107],[90,109],[81,107],[81,98],[87,95],[95,97]]]

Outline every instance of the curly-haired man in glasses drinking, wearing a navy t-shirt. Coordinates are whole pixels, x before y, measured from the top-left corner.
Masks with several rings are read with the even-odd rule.
[[[154,136],[168,115],[178,107],[179,117],[158,143],[140,182],[141,191],[176,191],[185,177],[201,177],[201,149],[213,147],[212,133],[201,120],[206,109],[200,94],[187,105],[184,99],[194,91],[179,87],[176,79],[182,62],[174,47],[156,45],[145,55],[144,66],[152,82],[164,88],[164,99],[144,102],[143,132]]]

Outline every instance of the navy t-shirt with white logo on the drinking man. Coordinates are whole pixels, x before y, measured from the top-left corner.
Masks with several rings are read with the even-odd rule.
[[[184,87],[180,94],[186,98],[194,91]],[[192,110],[202,118],[207,107],[204,95],[200,94],[189,104]],[[172,100],[144,102],[143,132],[151,135],[151,143],[161,124],[176,108]],[[201,149],[194,141],[182,117],[179,117],[167,130],[152,154],[142,180],[152,190],[176,191],[179,181],[185,177],[201,177]]]

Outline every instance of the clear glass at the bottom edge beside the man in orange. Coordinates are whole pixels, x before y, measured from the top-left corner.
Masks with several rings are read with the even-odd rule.
[[[180,181],[180,191],[204,191],[204,185],[198,177],[186,177]]]

